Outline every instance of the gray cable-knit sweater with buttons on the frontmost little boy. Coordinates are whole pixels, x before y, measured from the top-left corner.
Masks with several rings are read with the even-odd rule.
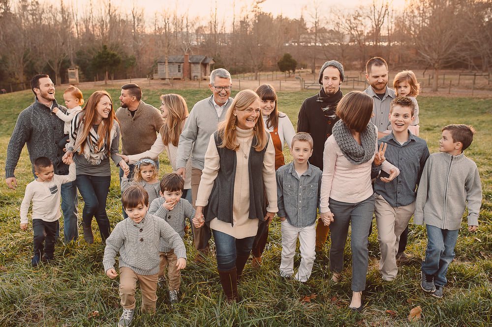
[[[139,223],[130,218],[120,221],[106,240],[102,264],[104,271],[113,268],[120,252],[120,268],[128,267],[139,275],[159,272],[159,245],[163,239],[172,244],[178,258],[186,259],[183,240],[169,224],[149,213]]]

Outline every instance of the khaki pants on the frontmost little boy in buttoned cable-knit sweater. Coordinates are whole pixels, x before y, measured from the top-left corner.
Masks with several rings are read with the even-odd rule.
[[[142,312],[155,312],[155,303],[157,302],[157,274],[139,275],[131,268],[122,267],[120,269],[120,298],[124,309],[135,309],[135,289],[137,280],[140,283],[140,292],[142,292]]]

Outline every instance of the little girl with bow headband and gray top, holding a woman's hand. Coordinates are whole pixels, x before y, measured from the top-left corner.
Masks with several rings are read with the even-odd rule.
[[[131,185],[141,186],[149,193],[149,203],[159,197],[159,180],[157,179],[159,171],[151,158],[142,158],[135,163],[135,173],[133,180],[128,180],[128,173],[125,172],[122,177],[121,190],[126,190]]]

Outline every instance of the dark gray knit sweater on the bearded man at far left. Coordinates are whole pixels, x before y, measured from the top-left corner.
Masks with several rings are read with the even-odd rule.
[[[53,100],[52,108],[54,107],[66,111],[66,108],[59,105],[56,100]],[[51,108],[37,101],[37,98],[31,106],[22,110],[8,142],[5,178],[14,177],[15,167],[26,143],[31,164],[39,157],[48,157],[53,163],[55,174],[66,175],[68,165],[63,164],[64,152],[58,146],[58,141],[63,137],[63,124]],[[32,171],[34,172],[34,169]]]

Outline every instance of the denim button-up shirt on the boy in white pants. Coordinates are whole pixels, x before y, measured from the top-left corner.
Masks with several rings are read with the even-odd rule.
[[[278,168],[278,217],[286,217],[294,227],[307,227],[316,222],[321,189],[321,170],[307,163],[307,170],[298,177],[294,163]]]

